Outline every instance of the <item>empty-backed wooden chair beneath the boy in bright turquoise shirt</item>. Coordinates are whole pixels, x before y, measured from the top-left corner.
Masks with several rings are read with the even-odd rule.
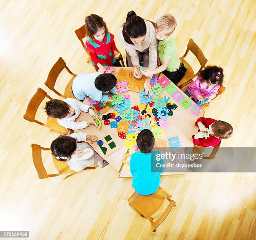
[[[161,187],[151,195],[139,195],[137,192],[134,192],[133,195],[128,199],[128,203],[130,207],[138,213],[141,217],[148,219],[151,223],[151,231],[156,232],[156,227],[158,227],[166,217],[169,215],[172,207],[175,207],[176,204],[174,200],[171,200],[171,195],[164,191]],[[164,200],[169,201],[169,205],[166,207],[164,213],[159,217],[155,222],[154,218],[151,217],[154,213],[159,210],[159,208],[163,205]]]

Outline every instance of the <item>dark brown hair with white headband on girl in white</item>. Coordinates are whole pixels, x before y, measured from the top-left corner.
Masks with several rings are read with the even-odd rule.
[[[77,149],[77,141],[71,136],[61,135],[51,143],[51,154],[55,157],[67,157],[58,159],[63,162],[69,161],[71,155]]]

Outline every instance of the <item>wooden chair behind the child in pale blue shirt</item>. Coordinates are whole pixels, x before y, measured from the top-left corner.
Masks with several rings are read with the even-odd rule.
[[[59,93],[55,88],[55,83],[56,80],[59,76],[59,74],[61,73],[61,71],[63,69],[66,69],[68,73],[70,73],[73,77],[69,80],[65,91],[64,91],[64,95],[62,95],[61,93]],[[54,93],[56,93],[57,95],[63,97],[63,98],[73,98],[75,99],[75,97],[72,94],[71,91],[71,86],[73,83],[74,78],[77,76],[77,74],[72,73],[72,71],[69,70],[69,68],[67,67],[67,64],[65,63],[65,61],[63,60],[63,58],[59,58],[58,61],[56,61],[56,63],[54,64],[54,66],[51,68],[51,71],[49,72],[49,75],[47,77],[46,82],[44,83],[49,89],[51,89],[51,91],[54,91]]]

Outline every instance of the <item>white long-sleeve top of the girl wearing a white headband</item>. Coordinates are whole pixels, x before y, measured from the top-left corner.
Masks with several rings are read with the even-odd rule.
[[[84,168],[89,167],[94,164],[94,158],[97,157],[99,154],[95,152],[90,145],[86,142],[87,134],[85,132],[78,132],[70,134],[69,136],[75,138],[77,141],[82,141],[81,143],[77,142],[77,152],[84,152],[82,157],[77,157],[74,154],[71,155],[71,159],[67,161],[69,167],[76,171],[80,172]]]

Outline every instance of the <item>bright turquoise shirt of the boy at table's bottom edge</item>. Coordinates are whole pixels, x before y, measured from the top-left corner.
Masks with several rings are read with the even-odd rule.
[[[156,153],[156,151],[154,151]],[[151,154],[135,152],[131,155],[130,171],[133,175],[133,188],[140,195],[150,195],[160,186],[160,172],[151,172]]]

